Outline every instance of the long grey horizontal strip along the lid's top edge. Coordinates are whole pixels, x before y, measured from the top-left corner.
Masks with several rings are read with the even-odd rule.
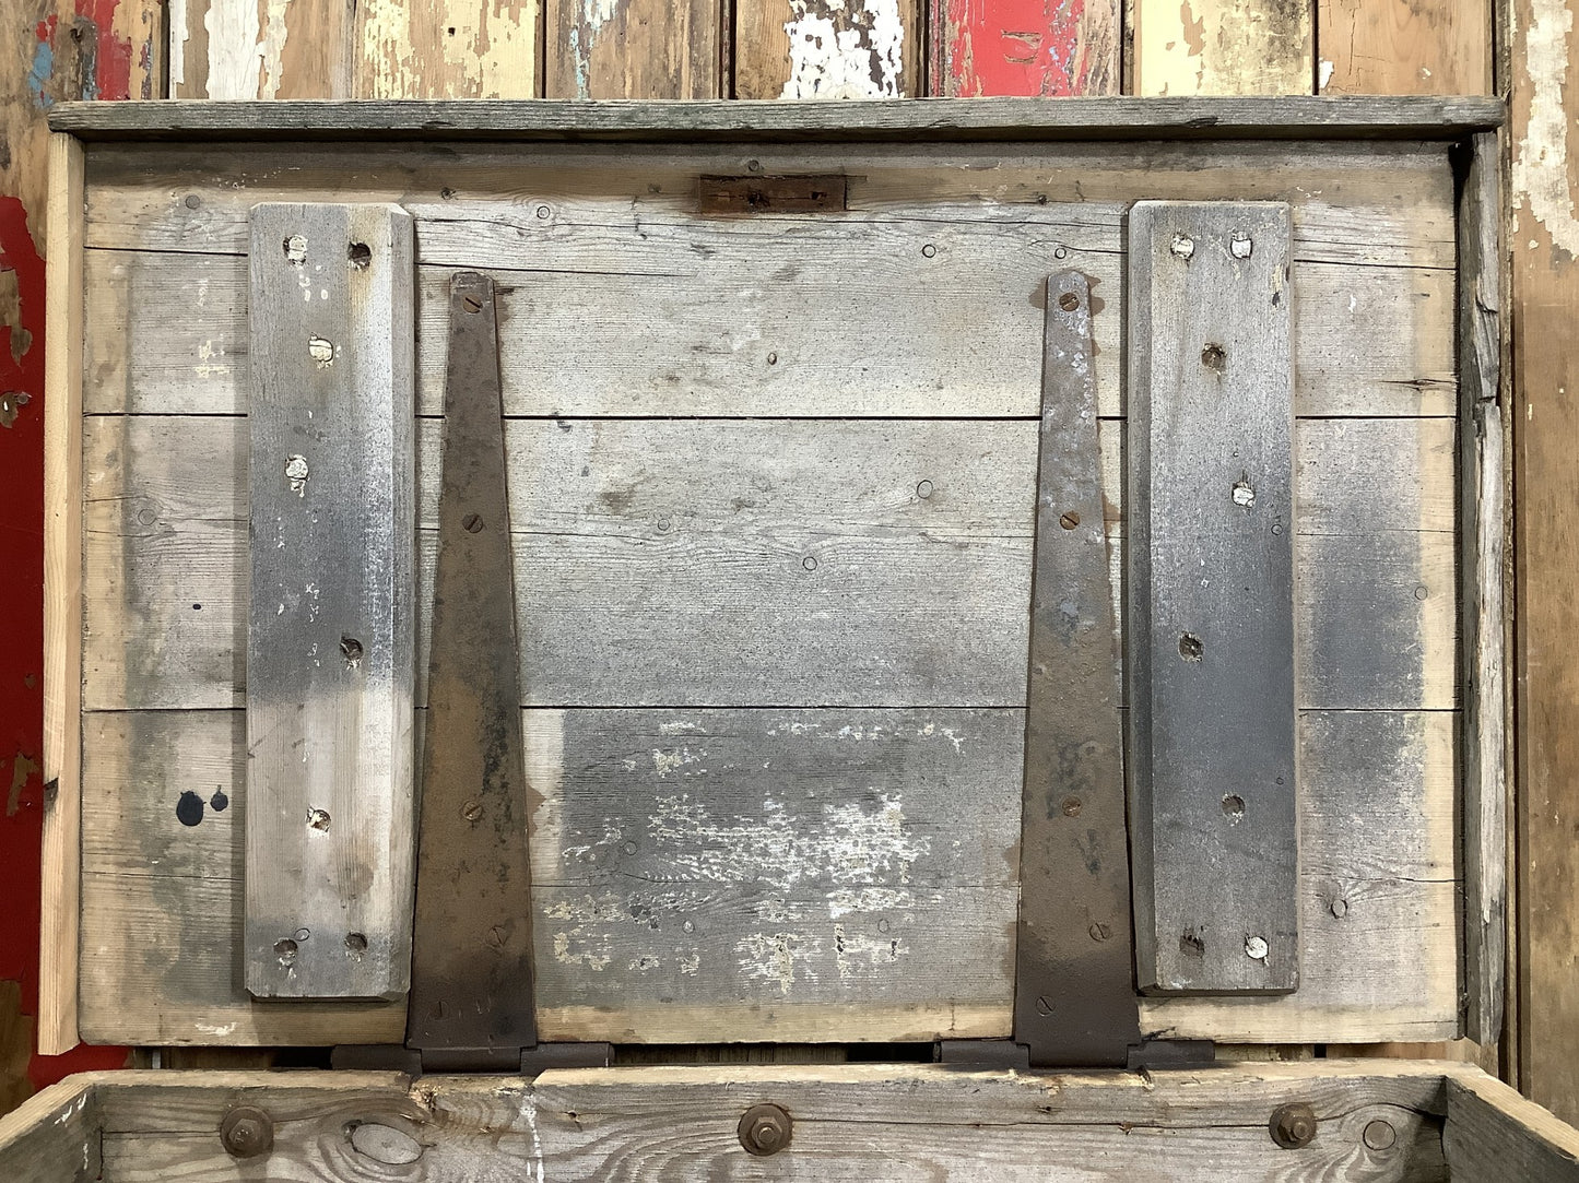
[[[1495,128],[1494,98],[1060,98],[921,103],[360,101],[57,103],[55,131],[95,139],[1457,139]]]

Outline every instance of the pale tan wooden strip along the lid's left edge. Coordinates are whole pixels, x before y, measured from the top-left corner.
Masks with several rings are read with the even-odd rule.
[[[44,839],[38,1050],[77,1044],[82,903],[82,144],[49,141],[44,338]],[[51,791],[51,785],[54,790]]]

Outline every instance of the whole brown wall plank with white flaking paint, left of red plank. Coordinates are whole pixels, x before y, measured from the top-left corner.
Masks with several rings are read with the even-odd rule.
[[[737,98],[924,93],[919,0],[744,0],[733,11]]]

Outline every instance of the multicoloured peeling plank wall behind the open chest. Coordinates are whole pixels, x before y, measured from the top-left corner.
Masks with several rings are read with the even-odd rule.
[[[1566,155],[1579,96],[1565,85],[1576,9],[1579,0],[0,0],[0,1109],[65,1072],[126,1058],[122,1049],[30,1058],[51,104],[1502,93],[1511,101],[1519,777],[1500,1068],[1579,1120],[1579,591],[1570,575],[1579,174]]]

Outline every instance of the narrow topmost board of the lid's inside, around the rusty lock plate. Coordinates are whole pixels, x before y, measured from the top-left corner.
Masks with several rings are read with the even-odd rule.
[[[636,232],[647,224],[695,223],[698,174],[759,171],[848,174],[854,218],[914,220],[928,216],[917,205],[990,204],[1012,205],[1009,220],[1034,223],[1047,218],[1047,205],[1127,205],[1137,193],[1288,201],[1296,207],[1296,259],[1456,264],[1446,152],[1410,142],[1301,145],[1293,160],[1281,144],[764,144],[750,153],[731,145],[633,145],[614,153],[534,144],[529,155],[485,145],[358,145],[352,160],[344,148],[305,144],[251,147],[245,161],[246,177],[238,178],[235,167],[216,169],[204,145],[95,145],[87,245],[242,254],[253,204],[336,201],[354,186],[365,201],[399,202],[418,223],[493,223],[496,238],[513,227],[516,253],[567,246],[589,232],[606,240],[614,227],[635,240],[628,245],[639,254],[644,243]],[[1004,216],[992,208],[976,213]],[[827,215],[804,220],[821,223]],[[725,232],[718,220],[706,224]],[[767,223],[745,220],[737,231],[750,232],[752,224]],[[1120,243],[1116,227],[1107,234]],[[654,248],[662,245],[660,237]],[[422,242],[418,251],[426,257]]]

